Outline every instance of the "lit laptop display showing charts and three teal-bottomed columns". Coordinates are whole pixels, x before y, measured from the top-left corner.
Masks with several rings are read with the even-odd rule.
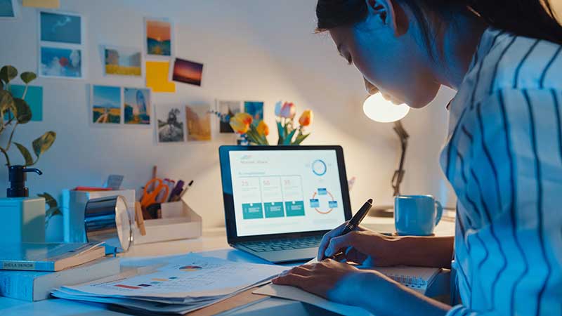
[[[229,154],[238,237],[332,230],[344,223],[336,150]]]

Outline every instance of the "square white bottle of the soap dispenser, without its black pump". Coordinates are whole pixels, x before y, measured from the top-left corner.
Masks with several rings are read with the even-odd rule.
[[[0,232],[5,242],[45,242],[45,199],[0,199]]]

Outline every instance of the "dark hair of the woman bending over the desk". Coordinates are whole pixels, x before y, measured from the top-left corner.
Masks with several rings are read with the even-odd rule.
[[[353,25],[367,17],[366,0],[318,0],[317,32]],[[556,20],[549,0],[396,0],[410,7],[419,21],[426,44],[431,44],[432,29],[426,13],[450,18],[450,13],[475,13],[491,27],[545,39],[562,45],[562,25]]]

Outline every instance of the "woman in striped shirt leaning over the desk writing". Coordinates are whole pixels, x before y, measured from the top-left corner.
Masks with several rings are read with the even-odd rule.
[[[462,305],[332,260],[274,283],[375,315],[562,315],[562,27],[548,1],[319,0],[316,12],[370,93],[424,107],[441,84],[457,90],[440,162],[458,198],[455,239],[341,226],[318,258],[447,267],[454,252]]]

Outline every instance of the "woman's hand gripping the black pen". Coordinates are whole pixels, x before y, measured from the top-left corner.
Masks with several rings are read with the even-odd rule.
[[[329,231],[322,238],[318,248],[318,261],[329,258],[343,251],[346,261],[368,266],[397,265],[398,249],[395,242],[399,237],[388,237],[358,228],[353,232],[340,236],[346,223]]]

